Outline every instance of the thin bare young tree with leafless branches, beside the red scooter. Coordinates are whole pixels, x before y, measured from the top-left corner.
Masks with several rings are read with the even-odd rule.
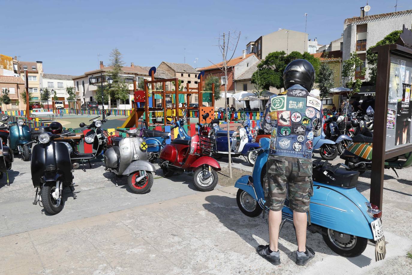
[[[237,45],[239,44],[239,38],[240,38],[240,31],[239,33],[236,31],[229,31],[229,33],[226,35],[226,33],[223,33],[223,35],[219,34],[218,39],[218,47],[220,50],[220,53],[222,55],[222,66],[218,66],[212,61],[209,60],[212,64],[216,65],[220,70],[222,70],[225,73],[225,112],[226,112],[226,124],[227,124],[227,152],[228,152],[228,157],[229,157],[229,177],[232,178],[232,156],[230,155],[230,135],[229,135],[229,113],[227,111],[227,68],[228,68],[228,63],[232,60],[234,53],[236,52]],[[230,58],[228,58],[230,56]]]

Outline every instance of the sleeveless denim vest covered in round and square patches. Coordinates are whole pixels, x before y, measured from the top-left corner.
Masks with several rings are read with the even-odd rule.
[[[301,85],[271,96],[260,127],[271,135],[269,154],[311,158],[314,132],[322,125],[322,102]]]

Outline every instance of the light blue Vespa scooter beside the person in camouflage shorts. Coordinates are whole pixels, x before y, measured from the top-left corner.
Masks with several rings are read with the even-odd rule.
[[[314,138],[314,143],[321,139]],[[264,182],[270,140],[260,139],[252,176],[242,176],[236,181],[239,188],[236,201],[243,214],[259,216],[265,207]],[[318,147],[318,145],[317,145]],[[315,163],[315,162],[314,162]],[[384,235],[379,219],[382,212],[356,190],[359,173],[335,169],[334,172],[313,169],[313,196],[310,200],[308,229],[322,234],[330,249],[345,257],[355,257],[365,251],[368,239],[380,240]],[[293,211],[286,200],[282,209],[283,222],[293,221]],[[266,208],[267,210],[267,208]]]

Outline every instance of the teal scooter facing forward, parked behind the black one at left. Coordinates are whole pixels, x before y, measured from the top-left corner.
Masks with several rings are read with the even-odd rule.
[[[24,161],[30,160],[30,148],[26,145],[31,141],[30,128],[25,123],[33,122],[24,122],[22,119],[17,120],[16,122],[9,122],[8,124],[16,124],[10,127],[9,129],[9,148],[14,152],[17,152],[22,156]],[[31,147],[31,143],[30,143]]]

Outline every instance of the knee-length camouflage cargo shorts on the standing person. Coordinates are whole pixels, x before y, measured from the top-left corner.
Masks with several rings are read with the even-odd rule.
[[[267,206],[273,211],[282,210],[288,191],[290,209],[296,212],[308,212],[310,197],[313,195],[312,161],[269,155],[266,169]]]

